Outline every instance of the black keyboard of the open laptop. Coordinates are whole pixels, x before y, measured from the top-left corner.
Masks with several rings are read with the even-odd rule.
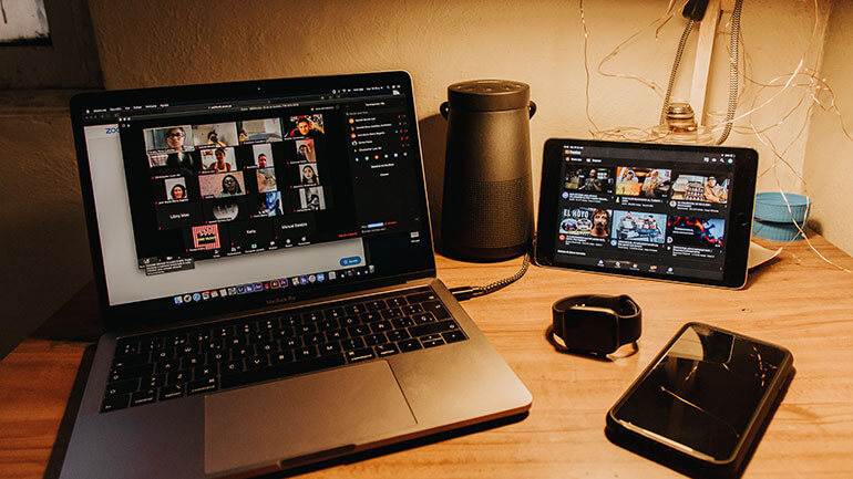
[[[429,288],[122,337],[101,412],[465,340]]]

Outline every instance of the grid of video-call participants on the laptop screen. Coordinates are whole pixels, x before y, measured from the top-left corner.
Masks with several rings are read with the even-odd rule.
[[[321,114],[142,132],[156,227],[187,253],[308,243],[305,214],[329,207]]]

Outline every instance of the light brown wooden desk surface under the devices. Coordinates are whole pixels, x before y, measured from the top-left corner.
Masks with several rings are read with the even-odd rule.
[[[853,259],[821,237],[812,242],[832,261],[853,269]],[[485,265],[438,261],[439,278],[453,287],[507,277],[521,260]],[[552,302],[586,292],[627,293],[643,306],[638,354],[604,363],[557,354],[546,343]],[[89,298],[83,303],[93,306],[91,293]],[[853,274],[824,263],[804,242],[787,246],[780,259],[750,274],[742,291],[531,268],[518,283],[463,305],[533,393],[530,416],[309,477],[681,477],[608,442],[604,418],[687,321],[716,324],[793,352],[797,376],[744,477],[853,476]],[[60,315],[83,324],[84,310],[70,308]],[[72,395],[72,386],[86,345],[31,339],[0,362],[0,477],[58,475],[70,420],[62,430],[60,424],[70,395],[73,404],[81,394]],[[73,418],[73,410],[68,414]]]

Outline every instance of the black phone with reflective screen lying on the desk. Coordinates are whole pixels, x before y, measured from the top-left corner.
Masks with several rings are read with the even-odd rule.
[[[689,476],[737,476],[793,372],[782,346],[688,323],[610,408],[605,433]]]

